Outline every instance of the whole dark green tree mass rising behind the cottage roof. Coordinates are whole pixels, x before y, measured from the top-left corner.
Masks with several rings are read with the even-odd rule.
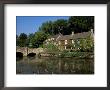
[[[44,22],[39,31],[43,31],[46,34],[56,35],[62,33],[64,35],[89,31],[94,29],[94,17],[93,16],[71,16],[68,20],[58,19],[56,21]]]

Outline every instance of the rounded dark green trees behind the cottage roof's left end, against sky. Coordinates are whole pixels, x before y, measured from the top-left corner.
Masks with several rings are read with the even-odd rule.
[[[56,35],[59,33],[65,34],[67,32],[67,24],[67,20],[64,19],[58,19],[54,22],[47,21],[39,27],[39,31],[43,31],[49,35]]]

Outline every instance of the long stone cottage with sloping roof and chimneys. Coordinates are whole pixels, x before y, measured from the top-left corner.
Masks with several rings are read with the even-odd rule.
[[[94,37],[93,29],[88,32],[82,32],[82,33],[74,33],[72,32],[71,35],[62,35],[57,34],[55,36],[49,37],[47,40],[45,40],[44,44],[47,45],[49,43],[52,43],[54,45],[57,45],[60,50],[63,49],[72,49],[71,45],[74,45],[74,41],[77,40],[79,42],[79,39],[85,39],[87,37]],[[80,43],[80,42],[79,42]]]

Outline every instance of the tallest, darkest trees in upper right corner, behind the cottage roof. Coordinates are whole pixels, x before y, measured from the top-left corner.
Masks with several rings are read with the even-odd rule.
[[[93,16],[71,16],[68,20],[69,28],[78,32],[86,32],[91,28],[94,29],[94,17]]]

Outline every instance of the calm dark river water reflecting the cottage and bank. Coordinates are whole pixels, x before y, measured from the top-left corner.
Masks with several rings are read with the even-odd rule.
[[[23,57],[16,62],[17,74],[94,74],[93,59]]]

